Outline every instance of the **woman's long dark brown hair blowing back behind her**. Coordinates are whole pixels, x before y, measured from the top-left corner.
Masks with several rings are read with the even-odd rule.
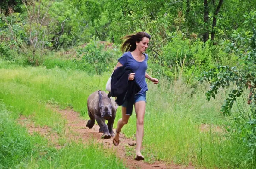
[[[123,42],[123,45],[121,46],[122,52],[134,51],[136,49],[136,42],[140,42],[144,37],[151,39],[151,36],[146,32],[138,32],[135,35],[133,34],[123,37],[126,41]]]

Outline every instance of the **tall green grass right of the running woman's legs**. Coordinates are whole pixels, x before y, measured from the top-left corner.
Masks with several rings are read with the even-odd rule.
[[[145,153],[157,159],[206,168],[248,167],[242,161],[246,148],[225,137],[225,131],[201,129],[202,124],[214,127],[226,123],[220,113],[223,96],[205,100],[205,88],[192,90],[179,81],[173,84],[161,79],[156,87],[149,85],[145,115]],[[221,127],[221,125],[220,125]],[[152,153],[153,152],[153,153]]]

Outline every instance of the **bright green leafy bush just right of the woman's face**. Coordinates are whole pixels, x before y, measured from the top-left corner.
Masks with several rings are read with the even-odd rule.
[[[183,72],[183,78],[189,80],[197,77],[202,71],[207,71],[215,64],[236,64],[236,55],[227,54],[226,43],[215,46],[210,41],[206,43],[199,39],[183,39],[176,34],[170,42],[161,48],[157,58],[150,56],[149,67],[152,72],[158,72],[168,78],[175,78],[176,72]],[[152,51],[150,51],[152,53]]]

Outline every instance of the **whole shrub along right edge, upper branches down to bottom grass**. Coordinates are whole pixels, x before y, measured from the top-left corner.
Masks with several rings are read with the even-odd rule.
[[[248,110],[246,101],[242,100],[245,106],[238,104],[238,113],[234,115],[233,122],[230,122],[226,129],[229,131],[233,140],[238,143],[245,143],[248,149],[247,161],[255,161],[256,149],[256,11],[245,13],[244,26],[250,27],[251,31],[238,30],[232,35],[234,42],[226,47],[226,52],[234,52],[238,55],[237,66],[217,66],[208,72],[203,72],[201,80],[211,81],[211,89],[205,95],[210,101],[211,97],[215,98],[215,94],[220,87],[225,88],[231,83],[236,85],[228,98],[221,107],[224,115],[232,115],[231,109],[233,104],[238,101],[243,93],[248,91],[247,104],[250,106]]]

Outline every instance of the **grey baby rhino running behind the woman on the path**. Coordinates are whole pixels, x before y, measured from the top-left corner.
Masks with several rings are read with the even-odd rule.
[[[86,127],[92,128],[95,119],[100,126],[99,132],[103,133],[101,138],[107,139],[114,136],[113,124],[116,118],[117,104],[114,99],[109,98],[104,91],[95,91],[87,98],[87,109],[90,120]],[[108,120],[106,125],[105,120]]]

